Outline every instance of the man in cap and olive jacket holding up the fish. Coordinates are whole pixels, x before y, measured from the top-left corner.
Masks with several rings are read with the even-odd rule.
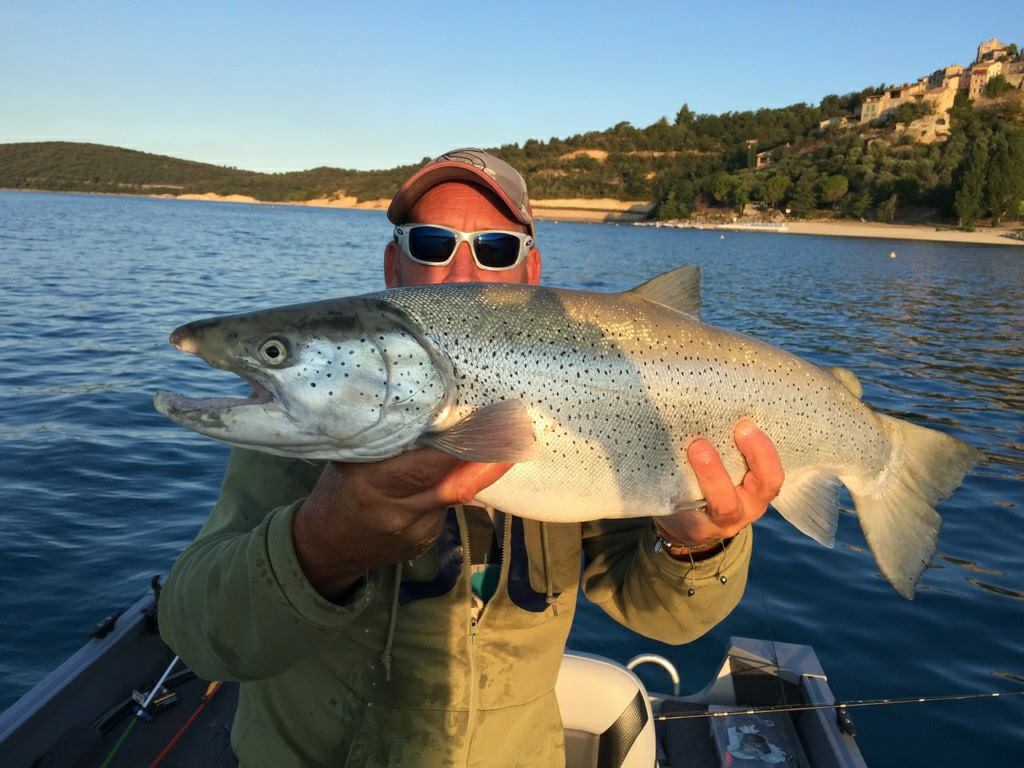
[[[541,279],[525,183],[486,153],[428,164],[388,217],[388,287]],[[197,674],[243,682],[244,766],[561,765],[553,689],[581,582],[616,621],[673,643],[739,600],[750,523],[782,470],[753,424],[735,440],[741,484],[694,441],[708,506],[656,527],[472,507],[510,465],[432,450],[344,466],[234,450],[168,578],[161,630]]]

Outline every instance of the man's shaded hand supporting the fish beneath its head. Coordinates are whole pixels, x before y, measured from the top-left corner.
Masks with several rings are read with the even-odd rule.
[[[426,552],[444,528],[447,507],[469,503],[511,468],[432,449],[374,464],[331,462],[295,513],[299,564],[317,592],[338,598],[370,568]]]

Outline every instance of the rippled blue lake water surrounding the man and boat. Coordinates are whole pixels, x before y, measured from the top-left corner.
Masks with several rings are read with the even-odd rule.
[[[0,191],[0,707],[166,573],[217,495],[227,449],[151,400],[238,380],[168,332],[382,288],[389,234],[378,212]],[[585,604],[573,647],[664,653],[687,690],[730,635],[814,646],[841,698],[1024,688],[1024,249],[552,222],[539,243],[545,283],[571,288],[698,263],[708,322],[851,368],[873,407],[987,457],[940,506],[914,602],[852,515],[829,551],[770,513],[742,603],[706,638],[659,645]],[[1022,697],[853,716],[876,766],[1024,761]]]

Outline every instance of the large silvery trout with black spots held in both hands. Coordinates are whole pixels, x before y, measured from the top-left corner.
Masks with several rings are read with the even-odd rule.
[[[246,379],[248,399],[158,393],[177,423],[280,456],[371,462],[432,445],[517,462],[479,500],[568,522],[665,515],[700,501],[696,436],[738,482],[733,425],[778,451],[774,506],[831,546],[849,488],[882,572],[911,597],[949,496],[978,452],[861,402],[825,371],[698,319],[699,269],[621,294],[455,284],[198,321],[171,343]]]

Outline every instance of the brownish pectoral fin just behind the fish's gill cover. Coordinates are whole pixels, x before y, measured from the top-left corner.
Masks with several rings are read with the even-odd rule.
[[[467,462],[522,462],[534,454],[534,420],[521,400],[502,400],[474,411],[442,432],[423,435],[423,445]]]

